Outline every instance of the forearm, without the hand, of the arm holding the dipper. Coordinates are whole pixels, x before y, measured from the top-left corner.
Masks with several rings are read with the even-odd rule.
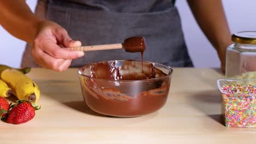
[[[25,0],[0,1],[0,24],[14,37],[32,43],[40,21]]]

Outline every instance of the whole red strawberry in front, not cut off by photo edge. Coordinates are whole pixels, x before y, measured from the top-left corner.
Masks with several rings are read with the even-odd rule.
[[[11,109],[7,116],[7,123],[21,124],[28,122],[34,117],[35,110],[40,109],[40,107],[26,100],[18,100],[17,103],[10,106]]]

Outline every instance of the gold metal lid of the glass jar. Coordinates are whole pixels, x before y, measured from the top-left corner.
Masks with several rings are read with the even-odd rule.
[[[232,34],[232,41],[239,44],[256,44],[256,31],[245,31]]]

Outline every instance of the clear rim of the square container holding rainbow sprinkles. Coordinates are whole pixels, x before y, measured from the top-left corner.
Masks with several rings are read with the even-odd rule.
[[[237,82],[241,82],[241,81],[255,81],[256,82],[256,79],[219,79],[219,80],[217,80],[218,89],[223,94],[256,95],[256,93],[228,93],[228,92],[223,92],[222,86],[220,85],[220,81],[237,81]]]

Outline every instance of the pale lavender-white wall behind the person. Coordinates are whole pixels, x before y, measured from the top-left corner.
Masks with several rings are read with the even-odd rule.
[[[33,11],[36,2],[36,0],[27,1]],[[217,53],[197,26],[187,1],[177,0],[176,5],[181,14],[185,40],[195,67],[219,67],[220,62]],[[231,33],[256,31],[255,0],[223,0],[223,5]],[[20,67],[21,56],[26,43],[16,39],[0,26],[0,44],[0,64]]]

